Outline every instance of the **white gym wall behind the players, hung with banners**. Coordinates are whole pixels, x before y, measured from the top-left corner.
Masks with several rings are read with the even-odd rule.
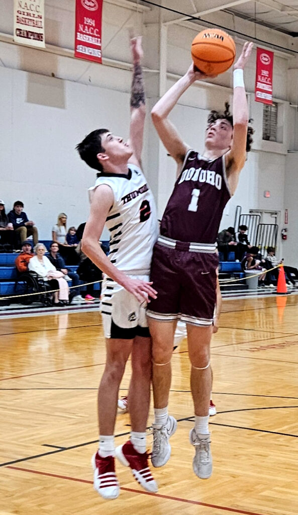
[[[180,6],[180,7],[179,7]],[[14,200],[23,200],[25,211],[50,238],[57,214],[65,211],[68,225],[85,221],[89,212],[87,187],[95,170],[80,161],[74,150],[84,135],[107,127],[124,138],[128,136],[129,91],[131,83],[128,28],[143,33],[144,66],[148,109],[154,105],[190,63],[190,44],[199,25],[162,25],[171,19],[158,8],[138,7],[126,0],[103,3],[103,64],[73,58],[73,0],[46,0],[46,50],[12,42],[11,0],[2,0],[0,20],[0,198],[7,211]],[[181,2],[171,2],[181,10]],[[173,16],[172,16],[173,18]],[[229,26],[231,16],[213,13],[209,20]],[[252,33],[251,24],[241,20],[237,30]],[[232,28],[232,25],[231,25]],[[280,33],[258,27],[260,40],[291,48],[290,40]],[[274,41],[273,41],[274,39]],[[291,42],[292,43],[292,42]],[[295,48],[297,49],[297,43]],[[238,52],[242,40],[236,38]],[[259,46],[262,46],[261,44]],[[293,46],[292,46],[293,47]],[[161,73],[159,73],[161,70]],[[165,74],[167,72],[167,75]],[[196,84],[181,98],[171,119],[184,140],[198,149],[203,147],[208,110],[221,109],[231,101],[231,71]],[[288,241],[278,245],[288,264],[298,260],[297,170],[297,63],[291,52],[275,52],[273,95],[279,102],[278,134],[282,143],[262,141],[262,105],[254,101],[255,53],[245,72],[250,115],[255,128],[253,151],[242,170],[238,190],[225,209],[221,228],[234,224],[235,207],[289,210]],[[291,151],[291,153],[289,153]],[[145,130],[144,169],[154,192],[159,215],[171,193],[176,169],[159,143],[148,115]],[[269,190],[270,198],[264,197]]]

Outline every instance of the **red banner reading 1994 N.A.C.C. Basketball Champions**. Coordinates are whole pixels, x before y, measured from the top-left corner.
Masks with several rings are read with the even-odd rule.
[[[76,0],[75,57],[101,63],[103,0]]]

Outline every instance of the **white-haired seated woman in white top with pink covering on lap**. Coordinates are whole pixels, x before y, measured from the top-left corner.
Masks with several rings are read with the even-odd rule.
[[[56,270],[55,266],[51,264],[48,258],[44,255],[46,248],[42,243],[38,243],[34,247],[36,255],[30,259],[28,269],[30,272],[35,272],[41,277],[46,283],[49,284],[50,289],[56,289],[54,292],[53,305],[56,307],[64,306],[64,302],[68,302],[68,284],[63,279],[63,272]]]

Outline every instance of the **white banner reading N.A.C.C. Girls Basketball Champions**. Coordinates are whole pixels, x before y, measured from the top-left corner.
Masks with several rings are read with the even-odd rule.
[[[13,40],[44,48],[44,0],[14,0],[13,4]]]

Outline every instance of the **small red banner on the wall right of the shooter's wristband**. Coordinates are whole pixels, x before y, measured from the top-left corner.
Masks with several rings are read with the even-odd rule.
[[[257,47],[255,100],[272,104],[272,78],[274,53]]]

